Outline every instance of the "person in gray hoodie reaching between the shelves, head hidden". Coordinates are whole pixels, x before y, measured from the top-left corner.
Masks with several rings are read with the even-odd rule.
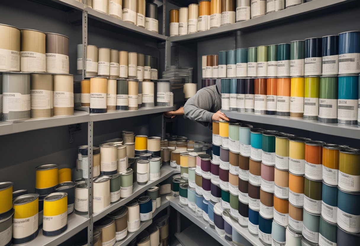
[[[165,116],[174,118],[176,115],[185,115],[185,118],[211,127],[212,120],[230,120],[220,109],[221,87],[220,79],[217,79],[216,85],[202,88],[186,101],[184,107],[175,111],[167,111]]]

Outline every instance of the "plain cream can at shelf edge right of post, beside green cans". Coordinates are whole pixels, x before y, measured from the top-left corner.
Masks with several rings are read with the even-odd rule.
[[[93,212],[99,213],[110,206],[110,177],[102,176],[93,182]]]

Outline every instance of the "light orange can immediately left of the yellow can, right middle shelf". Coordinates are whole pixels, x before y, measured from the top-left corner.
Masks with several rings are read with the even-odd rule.
[[[289,77],[278,78],[276,115],[290,116],[291,79]]]

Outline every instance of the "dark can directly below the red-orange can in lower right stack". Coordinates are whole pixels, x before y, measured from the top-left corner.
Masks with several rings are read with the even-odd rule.
[[[305,178],[304,209],[309,213],[321,214],[322,183]]]

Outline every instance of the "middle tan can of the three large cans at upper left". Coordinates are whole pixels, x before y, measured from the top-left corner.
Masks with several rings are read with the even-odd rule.
[[[45,72],[45,33],[21,29],[21,51],[20,70],[21,72]]]

